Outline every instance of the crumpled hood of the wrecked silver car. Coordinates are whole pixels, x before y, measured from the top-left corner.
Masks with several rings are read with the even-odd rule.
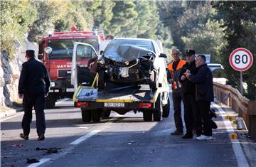
[[[136,60],[142,56],[153,53],[151,50],[141,48],[135,45],[117,45],[109,48],[104,54],[105,58],[115,62],[124,63],[126,61]]]

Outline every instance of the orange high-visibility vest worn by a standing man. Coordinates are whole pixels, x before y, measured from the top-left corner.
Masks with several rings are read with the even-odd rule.
[[[171,87],[173,90],[180,90],[181,89],[181,82],[178,81],[179,75],[181,75],[181,68],[183,65],[186,64],[185,60],[179,60],[176,70],[174,70],[173,65],[174,61],[172,61],[168,65],[168,70],[171,72],[171,78],[174,79],[174,82],[172,82]]]

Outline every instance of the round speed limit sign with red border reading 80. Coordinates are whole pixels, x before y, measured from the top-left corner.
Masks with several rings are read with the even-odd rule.
[[[253,62],[252,53],[245,48],[237,48],[230,54],[229,62],[234,70],[248,70]]]

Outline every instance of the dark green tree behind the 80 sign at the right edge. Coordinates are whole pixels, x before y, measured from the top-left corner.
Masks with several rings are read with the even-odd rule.
[[[222,20],[225,28],[225,39],[227,44],[221,50],[223,55],[222,63],[228,74],[229,84],[233,87],[240,85],[240,72],[233,70],[228,63],[230,53],[235,48],[247,48],[256,59],[255,50],[255,23],[256,23],[256,2],[255,1],[217,1],[213,7],[218,11],[216,19]],[[244,82],[247,83],[247,97],[256,98],[255,63],[252,68],[243,72]]]

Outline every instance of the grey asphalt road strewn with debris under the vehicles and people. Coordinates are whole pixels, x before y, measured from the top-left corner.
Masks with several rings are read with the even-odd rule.
[[[19,138],[22,112],[1,122],[1,166],[241,166],[225,122],[215,119],[215,139],[197,141],[171,136],[173,109],[162,122],[144,122],[142,113],[84,124],[68,99],[46,109],[46,139],[37,141],[35,114],[28,141]],[[20,145],[18,145],[20,144]],[[238,145],[238,144],[237,144]],[[236,145],[235,145],[236,146]],[[240,146],[240,145],[239,145]],[[48,149],[48,150],[47,150]],[[58,151],[57,153],[55,153]],[[238,161],[239,159],[239,161]],[[245,166],[247,161],[245,161]]]

